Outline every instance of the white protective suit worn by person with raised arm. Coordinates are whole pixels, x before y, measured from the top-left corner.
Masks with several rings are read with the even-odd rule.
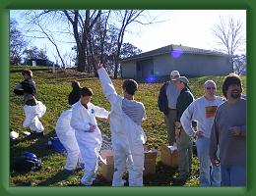
[[[146,135],[142,126],[134,123],[122,110],[123,98],[119,96],[103,68],[98,69],[100,83],[111,104],[110,128],[114,156],[112,185],[123,186],[125,165],[129,172],[129,186],[143,185],[144,147]]]

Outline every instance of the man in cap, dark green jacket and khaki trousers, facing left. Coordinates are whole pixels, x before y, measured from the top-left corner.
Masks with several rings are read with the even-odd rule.
[[[194,101],[194,96],[188,87],[188,79],[185,76],[176,78],[176,86],[180,90],[177,98],[176,110],[177,119],[175,123],[175,136],[177,141],[177,150],[179,157],[178,176],[173,180],[174,182],[185,183],[192,172],[192,141],[187,133],[184,131],[180,123],[180,118],[187,107]]]

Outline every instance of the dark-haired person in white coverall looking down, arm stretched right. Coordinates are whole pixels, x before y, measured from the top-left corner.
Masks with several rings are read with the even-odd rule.
[[[96,177],[97,159],[102,143],[101,132],[96,117],[108,119],[109,112],[91,103],[91,88],[81,89],[81,98],[72,106],[71,126],[75,129],[79,149],[85,164],[85,174],[81,183],[90,186]]]

